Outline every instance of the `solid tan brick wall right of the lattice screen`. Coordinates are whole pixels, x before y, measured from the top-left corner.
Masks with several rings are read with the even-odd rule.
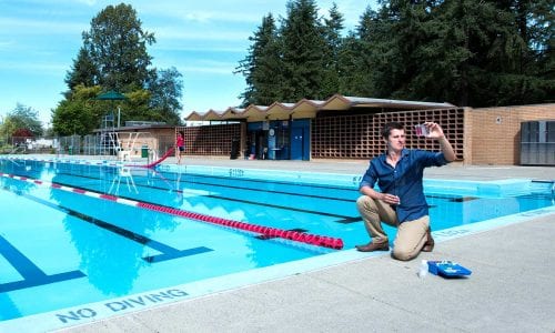
[[[467,164],[518,165],[521,122],[555,120],[555,104],[470,109],[472,155]]]

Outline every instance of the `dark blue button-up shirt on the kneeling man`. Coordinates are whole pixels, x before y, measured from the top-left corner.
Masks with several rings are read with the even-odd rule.
[[[398,222],[413,221],[428,214],[422,179],[424,168],[447,164],[442,152],[403,149],[395,168],[383,153],[370,161],[359,188],[377,185],[383,193],[397,195],[401,203],[395,205]]]

